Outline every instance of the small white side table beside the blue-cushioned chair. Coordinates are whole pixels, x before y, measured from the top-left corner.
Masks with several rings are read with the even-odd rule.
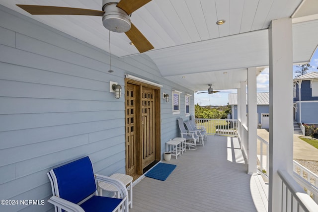
[[[128,205],[129,205],[129,208],[133,208],[133,177],[127,174],[120,174],[120,173],[113,174],[110,177],[121,181],[125,186],[129,185],[129,187],[127,188],[127,190],[129,191]],[[103,195],[103,190],[105,190],[109,192],[117,192],[117,198],[120,198],[119,192],[115,186],[109,183],[99,181],[98,187],[100,188],[99,190],[100,196]]]

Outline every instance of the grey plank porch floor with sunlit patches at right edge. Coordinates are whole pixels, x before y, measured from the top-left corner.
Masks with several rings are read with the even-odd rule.
[[[237,138],[209,136],[204,146],[172,157],[165,181],[145,177],[134,186],[130,212],[267,212],[266,187],[247,175]]]

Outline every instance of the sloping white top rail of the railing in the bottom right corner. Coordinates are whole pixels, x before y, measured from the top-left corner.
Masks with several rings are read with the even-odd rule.
[[[318,212],[318,205],[315,201],[306,194],[304,189],[286,170],[278,170],[278,175],[304,211]]]

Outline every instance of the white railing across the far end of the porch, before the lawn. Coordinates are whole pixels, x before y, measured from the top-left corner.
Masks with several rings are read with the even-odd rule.
[[[237,119],[195,119],[197,126],[203,126],[208,135],[238,136]]]

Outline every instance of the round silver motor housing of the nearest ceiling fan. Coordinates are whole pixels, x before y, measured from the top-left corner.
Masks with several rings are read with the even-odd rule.
[[[130,16],[117,7],[119,0],[103,0],[103,25],[112,32],[127,32],[130,30]]]

